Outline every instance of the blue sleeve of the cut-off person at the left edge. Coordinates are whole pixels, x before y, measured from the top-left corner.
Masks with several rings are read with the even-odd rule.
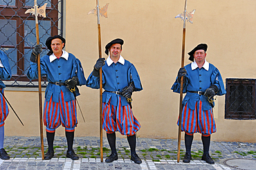
[[[0,78],[10,79],[12,77],[12,70],[10,69],[10,64],[6,53],[0,50],[0,59],[3,64],[3,68],[0,68]]]

